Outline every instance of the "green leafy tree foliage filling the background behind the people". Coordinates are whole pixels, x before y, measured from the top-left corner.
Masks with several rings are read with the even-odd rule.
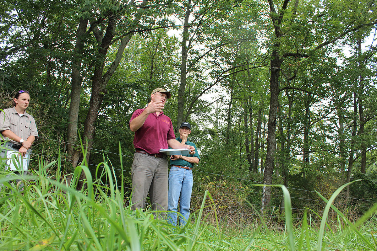
[[[274,2],[277,11],[282,9],[282,3]],[[77,59],[73,55],[80,18],[88,18],[91,25],[87,27],[84,47],[78,55],[82,59],[78,118],[81,135],[95,67],[103,64],[103,74],[106,73],[116,59],[122,38],[135,29],[118,68],[100,90],[103,100],[94,123],[96,130],[89,160],[92,176],[96,177],[94,163],[104,160],[109,160],[114,167],[118,182],[123,175],[120,166],[129,173],[134,151],[130,117],[134,110],[146,106],[150,91],[165,87],[173,95],[164,113],[172,118],[175,126],[178,100],[184,100],[183,117],[193,125],[190,139],[199,147],[201,162],[197,168],[204,172],[197,173],[198,181],[206,186],[217,184],[227,188],[234,183],[249,191],[235,197],[242,195],[241,201],[259,205],[259,190],[251,189],[248,182],[229,177],[262,181],[267,145],[275,144],[267,142],[267,121],[271,52],[276,50],[284,60],[279,68],[274,183],[333,193],[345,183],[351,159],[354,160],[350,169],[352,177],[365,181],[353,183],[350,195],[369,197],[373,201],[374,174],[362,175],[357,169],[361,167],[363,147],[368,153],[366,163],[376,159],[377,58],[372,38],[368,37],[375,29],[375,5],[353,0],[297,3],[296,9],[296,2],[288,1],[279,24],[283,35],[279,37],[273,32],[271,21],[279,13],[271,13],[266,3],[252,0],[192,3],[187,86],[184,95],[178,96],[183,28],[167,26],[181,25],[169,15],[183,22],[183,10],[188,2],[152,1],[148,8],[139,8],[137,4],[124,5],[119,1],[5,0],[0,3],[0,108],[10,107],[14,91],[28,90],[32,100],[28,112],[35,117],[40,134],[33,152],[49,160],[55,160],[59,154],[64,156],[66,148],[60,148],[57,141],[67,139],[72,61]],[[110,16],[116,19],[114,36],[106,47],[107,54],[98,55],[105,49],[99,38],[106,32]],[[135,22],[135,17],[141,19]],[[157,29],[160,26],[164,28]],[[341,40],[327,43],[345,32],[348,33]],[[359,38],[363,41],[360,52],[354,49]],[[360,108],[363,108],[363,122]],[[354,124],[357,131],[352,136]],[[258,126],[260,133],[257,133]],[[125,155],[123,160],[118,158],[119,143]],[[257,164],[253,172],[257,173],[249,173],[252,168],[248,157],[252,150],[254,154],[259,151],[254,158]],[[303,161],[304,150],[308,152],[308,162]],[[351,151],[355,154],[350,158]],[[68,161],[63,161],[62,169],[68,165]],[[36,167],[35,162],[31,166]],[[49,168],[53,172],[57,167]],[[208,173],[215,175],[208,176]],[[122,185],[130,187],[129,176],[124,177]],[[198,186],[198,189],[206,188]],[[311,193],[300,190],[292,191],[291,195],[314,199]],[[224,198],[227,196],[230,195],[224,193]],[[296,198],[292,198],[295,207],[308,206]],[[355,206],[349,203],[350,207]],[[271,206],[281,204],[281,191],[273,189]],[[313,210],[323,206],[317,202],[309,205]],[[370,205],[368,202],[362,206]],[[358,210],[363,211],[362,207]],[[302,216],[302,212],[293,213]]]

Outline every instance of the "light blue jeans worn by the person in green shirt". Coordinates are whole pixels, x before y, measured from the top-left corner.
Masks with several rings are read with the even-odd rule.
[[[168,211],[175,211],[175,213],[167,213],[167,219],[173,226],[177,225],[177,207],[179,196],[179,216],[178,226],[184,226],[190,217],[190,200],[192,192],[192,170],[174,167],[170,168],[169,172],[169,190],[168,190]]]

